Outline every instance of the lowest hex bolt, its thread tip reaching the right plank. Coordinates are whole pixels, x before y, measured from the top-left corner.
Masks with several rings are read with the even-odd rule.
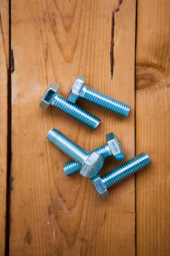
[[[99,197],[105,199],[109,196],[108,188],[133,175],[150,163],[150,157],[146,152],[144,152],[136,157],[133,157],[110,172],[106,172],[102,176],[96,175],[93,179],[91,179],[91,183],[94,185]]]

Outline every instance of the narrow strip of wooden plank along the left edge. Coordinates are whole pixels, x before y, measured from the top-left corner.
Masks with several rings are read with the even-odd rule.
[[[5,253],[7,175],[8,1],[0,0],[0,255]]]

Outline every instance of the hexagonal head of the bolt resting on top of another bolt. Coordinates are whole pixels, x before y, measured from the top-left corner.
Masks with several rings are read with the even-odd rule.
[[[93,152],[83,162],[80,174],[88,179],[93,178],[102,169],[104,158]]]

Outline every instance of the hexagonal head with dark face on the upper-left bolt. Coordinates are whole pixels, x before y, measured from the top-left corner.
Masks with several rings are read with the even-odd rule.
[[[40,101],[40,108],[47,110],[47,108],[51,104],[52,100],[58,93],[59,87],[60,87],[60,85],[55,82],[50,84],[50,86],[46,90],[46,93],[44,94],[44,96],[42,97],[42,99]]]

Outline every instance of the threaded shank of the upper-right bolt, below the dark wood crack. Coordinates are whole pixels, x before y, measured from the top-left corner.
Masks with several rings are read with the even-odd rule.
[[[130,111],[130,106],[124,102],[113,99],[103,93],[100,93],[88,86],[83,86],[79,97],[86,99],[102,108],[105,108],[119,116],[126,117]]]

